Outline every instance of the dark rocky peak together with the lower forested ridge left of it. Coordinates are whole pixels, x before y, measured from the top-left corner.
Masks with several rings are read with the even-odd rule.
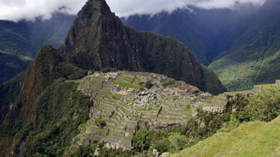
[[[89,0],[64,46],[43,47],[24,72],[0,85],[0,156],[69,154],[93,102],[68,80],[84,77],[83,69],[107,66],[164,73],[213,93],[225,91],[182,43],[125,27],[104,0]]]

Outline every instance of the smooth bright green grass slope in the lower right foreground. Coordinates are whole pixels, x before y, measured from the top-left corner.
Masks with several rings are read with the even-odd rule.
[[[269,123],[244,123],[170,156],[279,156],[280,116]]]

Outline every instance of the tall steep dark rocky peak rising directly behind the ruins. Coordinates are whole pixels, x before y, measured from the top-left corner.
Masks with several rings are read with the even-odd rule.
[[[104,0],[88,1],[78,13],[62,56],[82,69],[155,72],[203,91],[225,91],[215,73],[200,65],[184,44],[124,26]]]

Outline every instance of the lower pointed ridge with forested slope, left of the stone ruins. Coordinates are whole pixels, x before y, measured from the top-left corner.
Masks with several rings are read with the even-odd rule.
[[[88,118],[92,101],[76,90],[77,84],[65,81],[86,71],[65,62],[59,52],[43,47],[29,68],[1,85],[0,156],[31,156],[50,143],[55,145],[45,151],[62,156]]]

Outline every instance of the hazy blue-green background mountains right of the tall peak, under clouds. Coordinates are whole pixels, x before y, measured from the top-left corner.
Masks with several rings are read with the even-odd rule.
[[[178,39],[200,63],[215,61],[210,68],[228,90],[248,90],[279,77],[279,3],[270,0],[261,7],[238,6],[237,10],[191,7],[191,11],[178,9],[152,17],[130,16],[122,22]]]

